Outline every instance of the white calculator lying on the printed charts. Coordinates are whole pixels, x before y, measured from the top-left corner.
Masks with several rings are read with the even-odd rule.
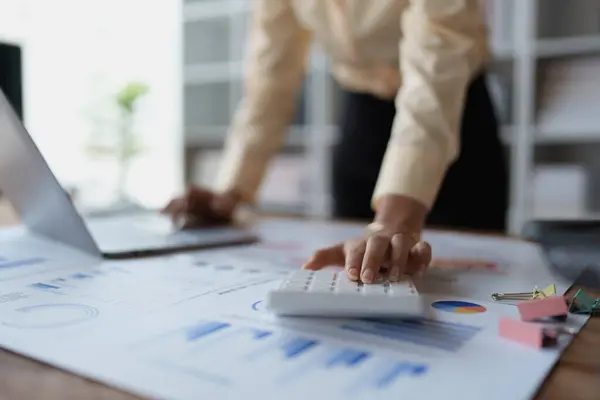
[[[280,316],[421,318],[427,310],[409,277],[363,284],[330,270],[292,273],[265,305]]]

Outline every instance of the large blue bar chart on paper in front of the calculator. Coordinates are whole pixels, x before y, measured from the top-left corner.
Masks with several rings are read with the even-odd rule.
[[[200,387],[208,382],[307,395],[315,388],[322,395],[386,392],[418,383],[429,372],[424,362],[358,344],[226,321],[202,321],[158,337],[137,348],[136,356],[184,372]]]

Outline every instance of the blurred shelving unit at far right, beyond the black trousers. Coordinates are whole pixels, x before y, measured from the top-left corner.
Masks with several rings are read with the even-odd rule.
[[[532,188],[536,169],[554,163],[552,157],[544,159],[547,147],[553,156],[562,154],[561,162],[568,155],[569,162],[583,165],[584,181],[598,178],[600,168],[585,150],[600,144],[600,3],[487,0],[487,6],[492,78],[500,93],[502,138],[510,150],[511,232],[519,233],[540,215],[597,214],[597,209],[571,210],[566,203],[540,211]],[[589,185],[581,190],[591,199],[600,195]]]

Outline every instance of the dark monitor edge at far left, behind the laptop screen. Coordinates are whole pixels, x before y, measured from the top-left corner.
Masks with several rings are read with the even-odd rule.
[[[0,89],[23,120],[23,61],[14,44],[0,42]]]

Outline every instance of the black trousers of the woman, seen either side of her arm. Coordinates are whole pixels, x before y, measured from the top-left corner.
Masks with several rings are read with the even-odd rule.
[[[346,92],[341,138],[333,151],[333,214],[372,219],[371,197],[396,115],[393,101]],[[505,151],[484,76],[466,96],[460,156],[441,185],[427,225],[504,231],[508,209]]]

